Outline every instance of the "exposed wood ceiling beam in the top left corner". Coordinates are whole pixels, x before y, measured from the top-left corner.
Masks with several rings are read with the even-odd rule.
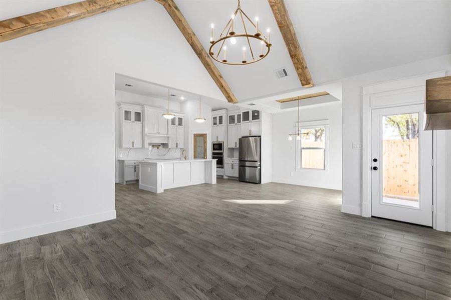
[[[0,42],[143,0],[86,0],[0,21]]]

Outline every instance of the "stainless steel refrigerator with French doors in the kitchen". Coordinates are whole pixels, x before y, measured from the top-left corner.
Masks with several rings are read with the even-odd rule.
[[[241,137],[238,146],[238,179],[260,183],[260,136]]]

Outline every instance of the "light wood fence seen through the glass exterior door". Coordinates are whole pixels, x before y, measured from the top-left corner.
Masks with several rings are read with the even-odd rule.
[[[384,139],[382,143],[383,194],[418,200],[418,139]]]

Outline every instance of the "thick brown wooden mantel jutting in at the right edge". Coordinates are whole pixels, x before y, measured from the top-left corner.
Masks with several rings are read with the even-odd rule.
[[[426,80],[424,130],[451,129],[451,76]]]

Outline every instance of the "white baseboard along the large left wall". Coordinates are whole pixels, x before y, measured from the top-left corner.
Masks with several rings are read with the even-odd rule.
[[[62,220],[57,222],[51,222],[46,224],[40,224],[31,227],[25,227],[20,229],[15,229],[11,231],[0,232],[0,244],[15,241],[23,238],[28,238],[32,236],[57,232],[61,230],[66,230],[70,228],[75,228],[79,226],[89,225],[93,223],[98,223],[102,221],[107,221],[116,218],[116,210],[110,210],[105,212],[100,212],[91,215],[85,215],[81,217],[76,217],[68,220]]]

